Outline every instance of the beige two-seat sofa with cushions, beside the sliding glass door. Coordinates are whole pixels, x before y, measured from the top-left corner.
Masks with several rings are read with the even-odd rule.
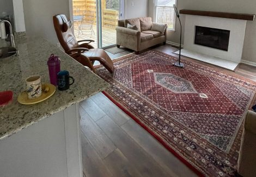
[[[136,25],[138,30],[127,28],[129,26],[127,24]],[[139,51],[151,46],[161,43],[166,44],[167,27],[162,32],[151,30],[156,25],[162,24],[152,23],[151,17],[119,20],[118,27],[115,28],[117,30],[117,47],[124,46],[139,54]]]

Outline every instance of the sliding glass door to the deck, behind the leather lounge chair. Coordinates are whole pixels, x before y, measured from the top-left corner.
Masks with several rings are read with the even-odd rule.
[[[118,20],[123,17],[124,0],[72,1],[74,33],[78,40],[93,39],[93,46],[115,45]]]

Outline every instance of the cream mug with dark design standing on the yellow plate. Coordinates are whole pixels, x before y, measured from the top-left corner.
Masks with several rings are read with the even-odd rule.
[[[42,94],[41,76],[31,76],[26,79],[28,99],[36,99]]]

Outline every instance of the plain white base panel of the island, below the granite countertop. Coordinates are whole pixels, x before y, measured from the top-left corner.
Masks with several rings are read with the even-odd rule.
[[[82,177],[78,104],[0,141],[1,177]]]

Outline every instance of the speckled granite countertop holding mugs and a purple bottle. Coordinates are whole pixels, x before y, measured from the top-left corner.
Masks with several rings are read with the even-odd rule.
[[[15,43],[20,56],[0,59],[0,91],[14,92],[13,101],[5,107],[0,107],[0,140],[109,86],[92,71],[42,38],[21,37],[16,38]],[[43,102],[21,105],[17,102],[17,96],[26,90],[25,80],[28,76],[40,75],[42,83],[50,83],[46,63],[51,53],[60,57],[61,69],[68,70],[70,76],[75,78],[75,83],[65,91],[56,89],[56,93]]]

